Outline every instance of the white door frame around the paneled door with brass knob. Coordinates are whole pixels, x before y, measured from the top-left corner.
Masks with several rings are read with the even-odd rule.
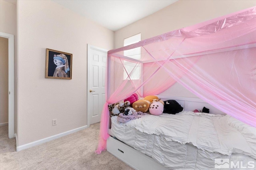
[[[100,47],[96,47],[94,45],[90,45],[90,44],[87,44],[87,126],[90,127],[90,113],[89,113],[89,110],[90,110],[90,104],[89,104],[89,90],[90,90],[90,60],[89,60],[89,57],[90,57],[90,53],[91,53],[91,50],[97,50],[97,51],[101,51],[101,52],[104,52],[104,53],[108,53],[108,50],[106,49],[102,49]]]

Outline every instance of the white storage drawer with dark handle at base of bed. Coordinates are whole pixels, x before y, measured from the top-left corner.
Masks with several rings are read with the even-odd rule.
[[[107,140],[107,150],[136,170],[167,170],[167,168],[164,168],[149,156],[142,154],[111,136]]]

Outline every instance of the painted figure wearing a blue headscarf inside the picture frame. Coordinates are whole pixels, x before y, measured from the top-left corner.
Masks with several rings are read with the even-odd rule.
[[[58,54],[53,57],[53,62],[56,65],[54,70],[54,77],[68,77],[68,71],[70,68],[68,66],[68,58],[64,54]]]

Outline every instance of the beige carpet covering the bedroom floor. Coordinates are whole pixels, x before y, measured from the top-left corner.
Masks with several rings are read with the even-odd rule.
[[[16,152],[8,126],[0,127],[0,170],[133,170],[107,151],[94,153],[100,124]]]

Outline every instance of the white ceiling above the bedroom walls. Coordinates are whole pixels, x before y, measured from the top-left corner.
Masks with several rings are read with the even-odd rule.
[[[52,0],[116,31],[178,0]]]

